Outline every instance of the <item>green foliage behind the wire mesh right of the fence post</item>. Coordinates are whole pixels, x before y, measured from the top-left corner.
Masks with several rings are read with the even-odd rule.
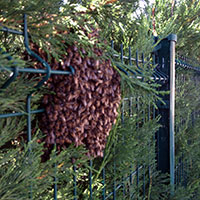
[[[177,70],[175,199],[197,199],[200,184],[199,74]]]

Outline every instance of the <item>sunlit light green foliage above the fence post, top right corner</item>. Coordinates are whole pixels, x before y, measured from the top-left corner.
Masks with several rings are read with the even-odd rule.
[[[156,0],[155,32],[163,38],[170,33],[177,34],[176,49],[179,53],[199,59],[200,4],[198,0],[167,1]],[[150,8],[147,8],[151,12]]]

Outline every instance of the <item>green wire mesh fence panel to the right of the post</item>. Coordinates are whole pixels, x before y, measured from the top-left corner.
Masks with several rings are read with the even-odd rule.
[[[199,179],[199,65],[184,56],[176,58],[176,188],[187,188],[192,181]],[[195,194],[191,197],[196,198]]]

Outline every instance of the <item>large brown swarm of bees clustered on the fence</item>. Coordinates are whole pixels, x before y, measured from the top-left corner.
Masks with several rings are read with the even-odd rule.
[[[36,45],[32,44],[32,48],[46,60],[45,53]],[[71,65],[75,74],[51,75],[47,81],[54,94],[43,97],[45,112],[40,128],[46,135],[45,146],[51,148],[56,143],[61,151],[72,143],[75,146],[85,145],[88,156],[102,157],[106,139],[118,114],[120,76],[110,60],[100,60],[103,52],[96,47],[95,59],[76,46],[70,46],[66,51],[62,62],[52,59],[51,69],[69,70]],[[36,63],[35,67],[41,68],[42,65]]]

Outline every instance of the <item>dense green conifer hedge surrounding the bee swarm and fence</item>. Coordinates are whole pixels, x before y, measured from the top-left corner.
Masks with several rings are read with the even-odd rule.
[[[69,44],[84,46],[92,55],[95,39],[90,40],[88,34],[98,30],[98,45],[105,50],[104,58],[111,58],[113,67],[120,65],[124,69],[131,69],[136,74],[137,67],[120,59],[112,57],[118,54],[120,43],[124,45],[124,55],[128,56],[128,47],[132,46],[133,54],[136,50],[144,52],[145,57],[153,50],[153,35],[159,39],[169,33],[176,33],[179,42],[177,49],[185,55],[193,55],[199,59],[199,12],[198,1],[184,0],[174,5],[167,0],[156,1],[144,9],[139,8],[139,1],[3,1],[0,0],[0,28],[22,30],[24,13],[28,14],[29,36],[42,49],[61,59],[65,48]],[[152,9],[155,8],[155,13]],[[138,12],[140,9],[140,12]],[[155,30],[153,21],[155,20]],[[115,51],[110,48],[110,41],[115,44]],[[63,43],[65,41],[65,43]],[[0,66],[19,67],[31,66],[31,63],[21,59],[25,51],[23,37],[0,32],[0,47],[13,61],[6,59],[7,55],[0,54]],[[112,52],[112,53],[111,53]],[[50,61],[50,58],[49,58]],[[153,66],[152,66],[153,67]],[[37,115],[32,115],[34,132],[32,142],[26,144],[26,115],[23,117],[4,118],[0,120],[0,199],[53,199],[54,177],[57,177],[58,199],[73,199],[74,182],[77,179],[78,199],[88,199],[89,171],[92,170],[92,187],[94,199],[101,199],[103,190],[102,173],[105,172],[106,195],[113,191],[113,185],[123,184],[117,191],[119,199],[169,199],[168,179],[156,171],[155,160],[155,132],[159,128],[158,118],[153,118],[153,109],[159,99],[158,87],[150,76],[152,71],[147,65],[142,65],[144,73],[141,80],[128,78],[121,71],[122,95],[128,100],[122,101],[117,123],[109,135],[104,158],[93,160],[92,168],[89,158],[85,156],[84,147],[70,146],[61,154],[53,151],[47,162],[41,162],[43,144],[38,143],[42,132],[37,127]],[[117,70],[117,68],[116,68]],[[180,74],[182,72],[179,72]],[[185,73],[185,71],[184,71]],[[0,86],[10,77],[10,71],[0,74]],[[139,75],[139,74],[137,74]],[[190,166],[187,172],[188,187],[177,187],[174,199],[195,199],[199,196],[199,125],[198,117],[191,126],[191,115],[198,108],[199,93],[194,81],[188,73],[184,77],[184,84],[177,76],[176,98],[176,157],[177,163],[184,154]],[[37,77],[19,76],[8,88],[0,91],[0,113],[26,112],[26,97],[37,82]],[[35,91],[32,98],[32,109],[40,106],[43,88]],[[132,97],[132,98],[131,98]],[[132,99],[132,100],[131,100]],[[132,103],[131,111],[129,103]],[[141,108],[141,109],[138,109]],[[150,111],[150,115],[148,113]],[[183,117],[184,116],[184,117]],[[184,118],[184,119],[183,119]],[[179,126],[181,124],[181,126]],[[73,171],[76,166],[76,173]],[[138,166],[137,176],[130,173]],[[105,170],[105,171],[104,171]],[[145,176],[144,176],[145,174]],[[144,180],[145,177],[145,180]],[[145,192],[144,192],[145,188]],[[144,192],[144,194],[143,194]],[[133,194],[133,195],[131,195]]]

